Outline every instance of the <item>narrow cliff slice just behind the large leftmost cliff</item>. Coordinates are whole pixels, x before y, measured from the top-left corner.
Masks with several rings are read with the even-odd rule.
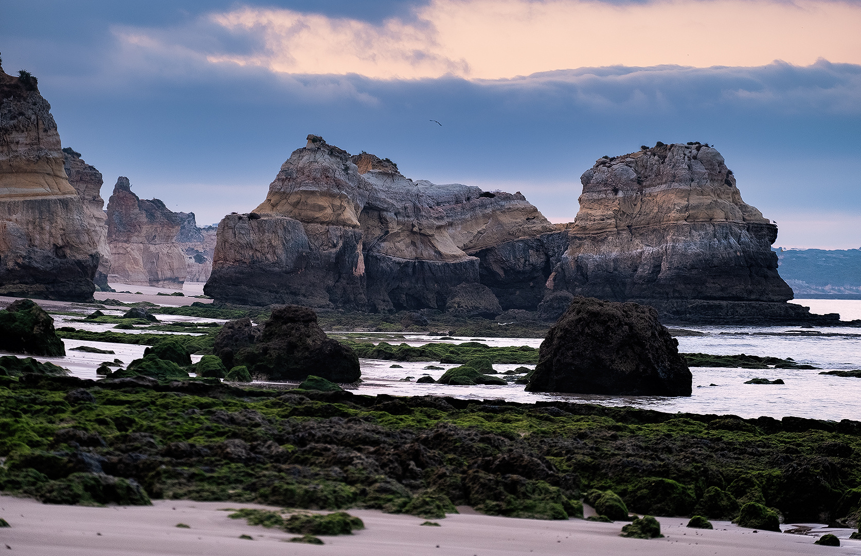
[[[78,197],[84,202],[84,209],[90,218],[92,226],[98,231],[99,268],[94,282],[102,290],[108,290],[108,272],[110,269],[110,247],[108,246],[108,216],[105,215],[105,201],[102,199],[102,172],[90,166],[81,153],[71,147],[63,149],[63,169],[69,178],[69,184],[75,188]]]

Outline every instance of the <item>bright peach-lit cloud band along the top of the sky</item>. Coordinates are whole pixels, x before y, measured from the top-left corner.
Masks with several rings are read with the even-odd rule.
[[[861,63],[861,5],[851,2],[431,0],[383,22],[251,6],[208,18],[258,41],[209,61],[281,73],[497,79],[583,66]]]

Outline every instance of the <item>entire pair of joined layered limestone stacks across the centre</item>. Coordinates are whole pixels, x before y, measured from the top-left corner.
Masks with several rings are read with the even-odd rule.
[[[519,193],[405,178],[319,136],[266,200],[221,222],[205,291],[219,301],[555,320],[575,296],[634,301],[666,322],[836,323],[786,303],[777,226],[700,143],[599,159],[580,210],[550,224]]]

